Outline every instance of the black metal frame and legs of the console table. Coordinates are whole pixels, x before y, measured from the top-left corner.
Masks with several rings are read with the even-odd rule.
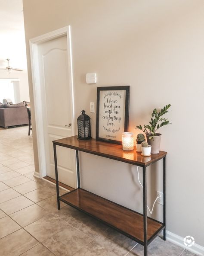
[[[60,146],[63,147],[62,145],[60,145]],[[58,210],[60,210],[60,201],[65,202],[66,204],[68,204],[68,202],[66,202],[65,200],[63,200],[59,196],[59,180],[58,180],[58,168],[57,168],[57,154],[56,154],[56,144],[55,144],[54,141],[53,141],[53,149],[54,149],[55,175],[56,175],[57,207],[58,207]],[[80,170],[79,170],[79,152],[78,151],[83,151],[83,150],[77,150],[76,149],[77,188],[80,188]],[[90,152],[86,152],[86,153],[94,154],[94,153],[90,153]],[[108,158],[108,157],[106,157],[106,158]],[[155,219],[153,219],[153,220],[157,221],[160,224],[162,224],[162,227],[158,231],[161,232],[163,230],[163,240],[166,241],[166,237],[167,237],[167,230],[166,230],[166,220],[167,220],[167,216],[166,216],[166,169],[167,169],[167,156],[165,155],[161,159],[163,159],[163,223],[161,223],[161,222],[159,222],[159,221],[157,221]],[[161,160],[161,159],[159,159],[159,160]],[[117,161],[119,161],[119,160],[117,160]],[[155,162],[157,162],[157,161],[158,160],[156,160]],[[155,162],[153,162],[153,163],[155,163]],[[143,215],[143,218],[144,218],[144,221],[143,221],[143,223],[144,223],[144,242],[142,242],[140,240],[137,240],[134,237],[131,237],[130,235],[122,232],[121,230],[118,230],[116,227],[113,227],[110,224],[108,224],[108,223],[106,223],[106,222],[96,218],[94,215],[89,214],[93,218],[96,218],[99,221],[104,222],[105,224],[111,226],[112,228],[116,229],[120,233],[122,233],[122,234],[126,235],[127,237],[130,237],[131,239],[135,240],[136,242],[142,244],[144,246],[144,256],[148,256],[148,244],[151,243],[151,241],[154,240],[155,237],[157,237],[158,233],[159,233],[159,232],[157,232],[157,234],[154,234],[149,239],[147,238],[147,218],[149,218],[149,217],[147,217],[147,167],[150,166],[153,163],[150,163],[150,164],[148,164],[146,166],[130,163],[132,165],[136,165],[136,166],[142,167],[142,174],[143,174],[143,214],[142,215]],[[70,192],[68,192],[68,193],[70,193]],[[66,193],[66,194],[68,194],[68,193]],[[69,204],[69,205],[71,205],[71,204]],[[71,206],[74,207],[74,205],[71,205]],[[123,207],[122,205],[120,205],[120,206]],[[83,210],[81,210],[79,208],[77,208],[77,210],[83,211]],[[88,214],[87,212],[85,212],[85,213]]]

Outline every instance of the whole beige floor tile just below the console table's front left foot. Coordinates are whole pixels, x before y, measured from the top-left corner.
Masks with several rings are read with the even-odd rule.
[[[42,242],[68,226],[69,225],[65,221],[60,220],[60,218],[57,218],[53,214],[49,214],[26,226],[25,230],[38,241]]]

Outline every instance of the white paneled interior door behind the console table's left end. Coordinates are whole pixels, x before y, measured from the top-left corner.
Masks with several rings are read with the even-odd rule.
[[[53,140],[73,135],[72,93],[68,68],[67,37],[38,45],[43,106],[46,175],[55,179]],[[57,146],[59,181],[76,187],[74,150]]]

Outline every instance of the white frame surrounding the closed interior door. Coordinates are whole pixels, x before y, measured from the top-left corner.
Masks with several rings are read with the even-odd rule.
[[[71,106],[72,106],[71,124],[72,124],[72,136],[73,136],[75,132],[75,122],[74,122],[74,86],[73,86],[73,70],[72,70],[72,55],[71,55],[71,27],[67,26],[62,29],[57,29],[55,31],[37,36],[29,40],[40,178],[46,176],[46,155],[45,155],[45,146],[44,146],[45,140],[44,140],[44,127],[43,127],[43,104],[42,104],[42,95],[41,95],[42,87],[40,84],[38,45],[42,44],[43,42],[47,42],[52,39],[62,37],[64,35],[67,36],[67,58],[68,58],[68,75],[69,75],[68,77],[69,77],[69,87],[71,92]],[[34,174],[38,176],[38,173],[35,172]]]

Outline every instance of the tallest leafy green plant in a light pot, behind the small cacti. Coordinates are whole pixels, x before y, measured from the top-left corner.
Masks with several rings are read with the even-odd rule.
[[[149,125],[137,125],[136,128],[145,132],[147,137],[147,143],[151,145],[151,153],[157,154],[159,153],[160,142],[161,142],[161,133],[157,133],[158,129],[164,125],[171,124],[168,118],[162,117],[164,114],[168,112],[170,108],[170,104],[164,106],[163,109],[159,112],[157,109],[154,109],[151,114],[151,121]]]

